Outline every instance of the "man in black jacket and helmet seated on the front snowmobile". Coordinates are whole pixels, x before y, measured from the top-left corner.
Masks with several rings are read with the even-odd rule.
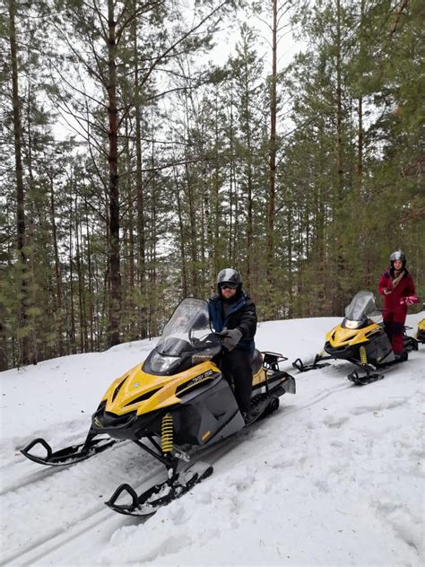
[[[256,305],[242,289],[242,277],[233,268],[221,270],[217,276],[217,292],[208,301],[208,310],[212,326],[222,337],[221,371],[233,377],[236,401],[248,422],[251,418],[251,355],[255,347]]]

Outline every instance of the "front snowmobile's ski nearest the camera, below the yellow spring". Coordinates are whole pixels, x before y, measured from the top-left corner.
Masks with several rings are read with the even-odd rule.
[[[154,484],[144,493],[137,495],[130,484],[121,484],[117,487],[108,502],[105,504],[120,514],[128,516],[149,516],[166,506],[169,502],[188,493],[195,484],[212,475],[212,465],[198,461],[191,466],[183,468],[178,475],[163,483]],[[124,494],[131,496],[130,504],[117,504],[117,500]]]

